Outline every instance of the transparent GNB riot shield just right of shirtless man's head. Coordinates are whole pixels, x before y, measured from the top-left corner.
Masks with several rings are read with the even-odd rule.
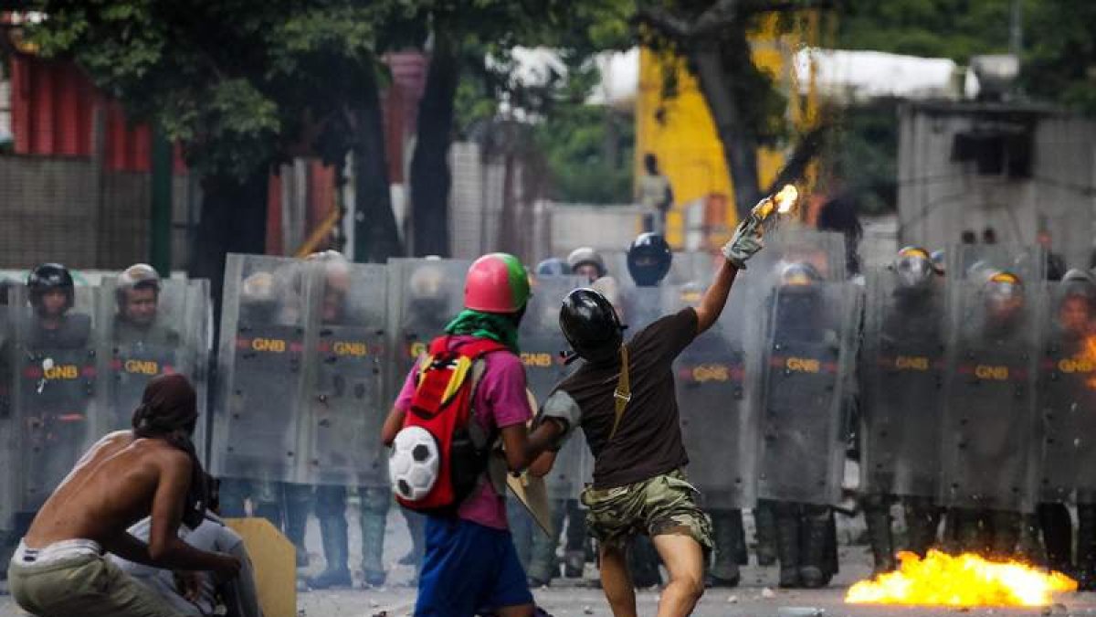
[[[210,451],[218,476],[296,482],[301,473],[302,263],[228,256]]]

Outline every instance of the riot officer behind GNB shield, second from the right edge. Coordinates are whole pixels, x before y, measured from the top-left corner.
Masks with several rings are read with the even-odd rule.
[[[1027,481],[1035,462],[1017,447],[1030,439],[1025,423],[1035,415],[1031,307],[1024,281],[1011,271],[977,261],[967,280],[972,318],[957,324],[946,400],[945,431],[955,430],[958,445],[944,458],[941,482],[952,494],[948,525],[960,550],[1009,558],[1020,539],[1019,509],[1035,493]]]

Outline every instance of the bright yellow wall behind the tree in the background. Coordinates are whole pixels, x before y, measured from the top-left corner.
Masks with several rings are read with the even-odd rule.
[[[754,61],[773,74],[777,87],[788,98],[788,119],[797,128],[808,126],[817,113],[813,92],[807,97],[807,109],[800,104],[798,85],[791,71],[792,54],[804,38],[813,43],[818,32],[818,14],[804,13],[791,34],[776,35],[776,23],[769,20],[762,32],[751,37]],[[682,206],[710,194],[722,194],[732,203],[731,180],[723,161],[723,150],[716,126],[700,94],[696,79],[684,61],[670,54],[650,49],[640,53],[639,94],[636,99],[636,178],[643,173],[643,155],[654,153],[659,167],[670,178],[674,189],[674,209],[666,222],[666,239],[675,248],[684,240]],[[662,96],[663,75],[676,71],[677,96]],[[770,182],[784,162],[784,153],[763,148],[758,153],[762,186]],[[726,225],[713,233],[726,234],[738,223],[734,207],[726,209]],[[718,244],[716,244],[718,246]]]

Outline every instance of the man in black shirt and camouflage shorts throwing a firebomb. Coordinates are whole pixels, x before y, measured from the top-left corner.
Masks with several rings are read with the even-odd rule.
[[[697,506],[684,467],[674,393],[674,358],[719,318],[734,277],[761,249],[761,224],[739,226],[700,304],[664,316],[624,343],[613,305],[592,289],[568,294],[560,327],[584,362],[545,401],[540,418],[581,416],[594,456],[594,482],[582,494],[601,546],[602,586],[613,614],[636,615],[626,549],[635,534],[654,541],[670,571],[659,616],[685,616],[704,593],[711,523]]]

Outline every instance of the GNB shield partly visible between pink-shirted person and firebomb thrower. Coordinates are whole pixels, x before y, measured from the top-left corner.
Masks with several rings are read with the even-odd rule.
[[[578,277],[541,277],[533,285],[533,296],[525,310],[518,333],[522,361],[529,391],[543,404],[556,385],[570,372],[563,363],[567,339],[559,329],[559,308],[571,290],[582,287]],[[552,500],[575,500],[582,491],[583,458],[589,456],[582,431],[574,431],[556,456],[551,473],[545,478]]]

